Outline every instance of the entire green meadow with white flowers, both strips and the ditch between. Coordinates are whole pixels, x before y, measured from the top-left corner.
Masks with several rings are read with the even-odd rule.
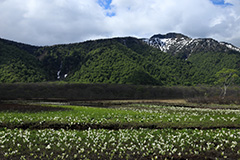
[[[2,103],[0,159],[240,158],[239,106],[102,103]]]

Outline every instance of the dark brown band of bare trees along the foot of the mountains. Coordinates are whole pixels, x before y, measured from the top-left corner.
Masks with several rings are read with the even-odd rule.
[[[219,87],[163,87],[126,84],[78,84],[78,83],[1,83],[1,100],[134,100],[134,99],[188,99],[202,103],[218,97]],[[236,99],[239,87],[228,90],[228,97]]]

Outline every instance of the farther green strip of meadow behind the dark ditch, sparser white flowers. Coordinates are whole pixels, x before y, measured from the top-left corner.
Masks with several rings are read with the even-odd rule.
[[[54,107],[54,106],[52,106]],[[213,110],[155,105],[121,108],[55,106],[71,110],[19,113],[0,112],[0,126],[8,128],[240,128],[239,110]]]

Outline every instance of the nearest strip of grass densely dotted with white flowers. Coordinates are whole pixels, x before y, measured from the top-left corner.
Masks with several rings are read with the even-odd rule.
[[[240,130],[0,130],[1,159],[238,159]]]

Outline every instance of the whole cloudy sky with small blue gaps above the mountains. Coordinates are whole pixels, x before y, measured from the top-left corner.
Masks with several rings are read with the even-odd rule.
[[[240,47],[240,0],[0,0],[0,37],[32,45],[169,32]]]

